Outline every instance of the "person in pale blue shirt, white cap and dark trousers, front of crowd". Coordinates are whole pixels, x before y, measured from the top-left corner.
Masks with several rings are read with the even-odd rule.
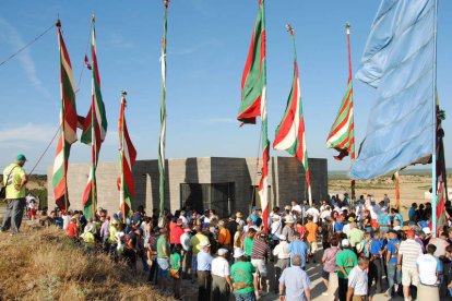
[[[212,255],[211,243],[209,241],[200,242],[201,251],[198,253],[198,300],[210,301],[212,288]]]

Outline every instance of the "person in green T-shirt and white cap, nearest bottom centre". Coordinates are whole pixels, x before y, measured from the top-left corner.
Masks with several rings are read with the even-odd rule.
[[[234,251],[236,263],[230,267],[230,277],[233,278],[233,288],[236,300],[254,301],[258,292],[258,275],[255,267],[245,258],[245,252],[241,249]],[[258,296],[259,298],[259,296]]]

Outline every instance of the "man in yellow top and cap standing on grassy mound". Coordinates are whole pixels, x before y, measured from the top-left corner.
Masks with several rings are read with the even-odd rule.
[[[3,184],[7,188],[7,212],[3,217],[3,225],[0,231],[7,231],[11,228],[12,233],[19,233],[21,228],[22,216],[25,207],[25,184],[28,181],[23,166],[26,158],[24,155],[17,155],[15,161],[3,170]]]

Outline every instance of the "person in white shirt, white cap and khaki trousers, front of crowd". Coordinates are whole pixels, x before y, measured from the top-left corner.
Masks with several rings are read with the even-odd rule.
[[[212,261],[212,300],[215,301],[228,301],[229,292],[233,291],[227,253],[227,249],[218,249],[218,256]]]

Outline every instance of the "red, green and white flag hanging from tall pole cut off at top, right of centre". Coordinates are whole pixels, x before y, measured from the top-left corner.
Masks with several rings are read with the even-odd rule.
[[[250,49],[241,77],[241,104],[237,120],[255,123],[261,117],[262,177],[259,197],[265,232],[269,230],[269,149],[270,141],[266,120],[266,60],[265,60],[265,10],[264,0],[259,1],[259,12],[251,36]]]

